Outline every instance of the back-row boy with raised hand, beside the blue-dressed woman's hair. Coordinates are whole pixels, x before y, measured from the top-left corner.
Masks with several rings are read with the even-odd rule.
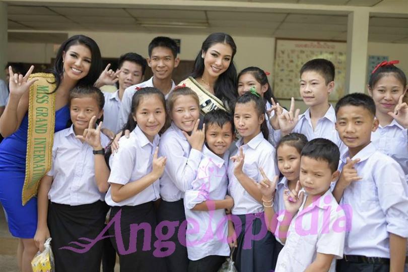
[[[118,117],[122,105],[121,101],[123,99],[124,91],[126,88],[134,84],[139,84],[143,81],[145,77],[146,65],[146,59],[137,53],[128,52],[119,57],[117,66],[118,70],[116,73],[114,73],[117,76],[116,79],[112,80],[112,83],[117,81],[119,89],[113,93],[103,93],[105,96],[105,106],[103,107],[103,127],[110,129],[113,133],[117,133],[121,128],[118,124]],[[109,65],[106,67],[105,71],[108,69]],[[110,71],[108,71],[108,73],[109,72]],[[114,77],[112,74],[110,76],[111,78]],[[109,76],[106,78],[109,80]]]

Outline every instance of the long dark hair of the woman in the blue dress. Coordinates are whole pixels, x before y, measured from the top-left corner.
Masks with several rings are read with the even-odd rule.
[[[83,85],[94,85],[96,80],[102,71],[102,59],[101,51],[99,50],[98,44],[90,37],[84,35],[75,35],[64,41],[58,49],[55,57],[54,67],[52,67],[48,72],[54,74],[56,89],[58,89],[61,79],[63,77],[63,61],[62,55],[66,52],[72,45],[82,44],[89,48],[91,51],[91,67],[89,69],[88,75],[80,79],[77,86]]]

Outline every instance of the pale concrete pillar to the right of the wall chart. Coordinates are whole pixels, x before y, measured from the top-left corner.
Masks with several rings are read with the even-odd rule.
[[[349,14],[346,93],[364,93],[366,89],[369,15],[367,9],[355,10]]]

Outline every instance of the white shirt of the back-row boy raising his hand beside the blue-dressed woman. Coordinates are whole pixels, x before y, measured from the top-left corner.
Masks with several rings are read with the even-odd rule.
[[[106,127],[117,133],[120,130],[119,126],[119,111],[122,102],[119,99],[119,90],[113,93],[104,92],[105,105],[103,106],[103,127]]]

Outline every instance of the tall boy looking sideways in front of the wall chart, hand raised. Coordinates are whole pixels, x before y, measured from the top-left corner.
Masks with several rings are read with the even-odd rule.
[[[345,147],[334,128],[334,108],[329,104],[329,95],[334,90],[334,74],[334,64],[324,58],[312,59],[303,64],[300,69],[300,95],[309,108],[299,115],[300,110],[295,111],[295,100],[292,98],[289,112],[276,112],[280,127],[274,128],[280,128],[282,135],[302,133],[309,141],[328,139],[343,151]]]

